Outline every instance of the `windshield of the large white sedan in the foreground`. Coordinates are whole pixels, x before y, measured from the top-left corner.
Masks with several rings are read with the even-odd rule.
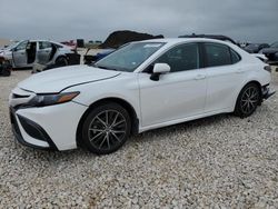
[[[98,61],[95,67],[132,72],[163,44],[162,42],[129,43]]]

